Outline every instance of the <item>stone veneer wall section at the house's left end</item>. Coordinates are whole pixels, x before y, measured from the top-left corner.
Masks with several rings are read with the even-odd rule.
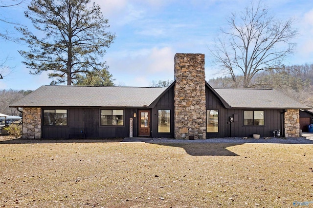
[[[23,108],[22,138],[41,138],[41,108]]]

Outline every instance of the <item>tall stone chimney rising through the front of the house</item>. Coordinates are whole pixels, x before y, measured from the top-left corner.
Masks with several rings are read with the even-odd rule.
[[[174,57],[175,138],[206,138],[204,54]]]

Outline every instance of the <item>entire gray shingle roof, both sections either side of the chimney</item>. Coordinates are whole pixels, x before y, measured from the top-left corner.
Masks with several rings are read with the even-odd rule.
[[[42,86],[11,107],[144,107],[166,88],[112,86]],[[214,88],[231,108],[310,109],[271,89]]]

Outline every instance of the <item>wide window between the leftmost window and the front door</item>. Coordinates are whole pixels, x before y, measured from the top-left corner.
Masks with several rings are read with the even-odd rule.
[[[123,126],[124,110],[101,110],[102,126]]]

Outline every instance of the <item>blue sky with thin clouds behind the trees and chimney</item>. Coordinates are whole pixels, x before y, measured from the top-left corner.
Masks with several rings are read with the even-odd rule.
[[[6,0],[4,0],[5,2]],[[206,57],[206,80],[219,76],[210,62],[209,49],[220,28],[226,27],[225,18],[231,12],[243,10],[251,0],[94,0],[109,19],[109,30],[116,35],[103,60],[120,86],[150,86],[153,80],[173,80],[176,53],[203,53]],[[26,0],[15,8],[0,9],[1,18],[31,28],[24,18]],[[295,54],[285,64],[313,63],[313,1],[263,0],[270,14],[277,19],[294,18],[299,36]],[[14,25],[0,23],[1,32],[18,34]],[[29,74],[22,64],[18,50],[26,45],[0,39],[0,63],[6,58],[7,69],[0,70],[0,89],[35,90],[48,85],[45,73]],[[221,76],[221,75],[220,75]]]

